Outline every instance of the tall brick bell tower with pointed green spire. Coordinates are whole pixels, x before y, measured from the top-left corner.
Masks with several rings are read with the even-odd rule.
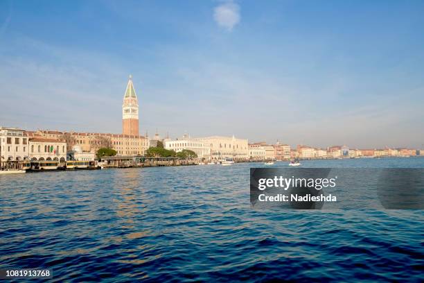
[[[139,135],[139,103],[132,85],[132,76],[128,79],[122,104],[122,133]]]

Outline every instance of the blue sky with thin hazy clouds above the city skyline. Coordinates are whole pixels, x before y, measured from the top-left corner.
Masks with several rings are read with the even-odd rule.
[[[0,1],[0,125],[424,148],[424,1]]]

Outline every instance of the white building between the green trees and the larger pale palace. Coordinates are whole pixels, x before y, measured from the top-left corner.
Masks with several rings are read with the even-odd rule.
[[[210,160],[211,159],[211,146],[203,141],[197,139],[191,139],[190,137],[183,137],[183,139],[166,140],[164,141],[164,148],[170,151],[179,153],[184,151],[193,151],[197,154],[197,157]]]

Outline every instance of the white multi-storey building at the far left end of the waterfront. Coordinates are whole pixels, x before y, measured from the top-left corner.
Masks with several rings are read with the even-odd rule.
[[[28,160],[28,135],[18,128],[0,127],[0,167],[6,162]]]

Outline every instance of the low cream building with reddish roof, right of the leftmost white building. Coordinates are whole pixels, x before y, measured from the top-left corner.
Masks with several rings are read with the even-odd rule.
[[[33,161],[67,160],[67,142],[61,139],[32,137],[29,139],[29,157]]]

